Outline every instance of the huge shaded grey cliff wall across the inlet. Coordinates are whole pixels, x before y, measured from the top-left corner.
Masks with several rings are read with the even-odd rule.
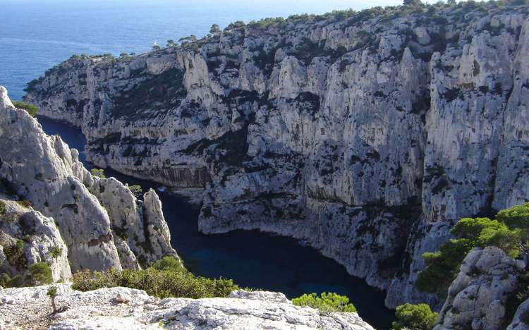
[[[263,20],[28,85],[98,166],[205,188],[200,230],[303,238],[427,300],[422,252],[529,197],[529,8],[461,3]]]

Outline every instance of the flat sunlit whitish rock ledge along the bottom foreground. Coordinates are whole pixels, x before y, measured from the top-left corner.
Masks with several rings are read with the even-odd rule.
[[[233,291],[229,298],[166,298],[131,288],[74,291],[57,285],[0,291],[0,329],[373,329],[356,313],[323,314],[292,305],[282,293]]]

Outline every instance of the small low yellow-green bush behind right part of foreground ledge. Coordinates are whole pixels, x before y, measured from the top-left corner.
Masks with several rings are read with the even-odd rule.
[[[322,312],[356,312],[356,307],[349,303],[349,298],[336,293],[322,293],[320,297],[316,293],[305,294],[293,298],[292,303],[298,306],[317,308]]]

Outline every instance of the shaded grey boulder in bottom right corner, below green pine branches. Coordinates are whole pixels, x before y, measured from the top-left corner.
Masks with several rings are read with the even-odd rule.
[[[525,262],[507,257],[498,247],[476,247],[470,251],[450,285],[434,330],[501,329],[507,298],[516,289],[518,275],[524,269]]]

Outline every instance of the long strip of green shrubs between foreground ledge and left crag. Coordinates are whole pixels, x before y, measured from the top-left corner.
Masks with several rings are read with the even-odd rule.
[[[169,257],[171,258],[171,257]],[[152,267],[140,271],[80,271],[73,275],[75,290],[90,291],[98,288],[125,286],[145,290],[159,298],[213,298],[226,297],[238,286],[231,279],[207,279],[194,276],[181,267],[178,260],[164,258]]]

